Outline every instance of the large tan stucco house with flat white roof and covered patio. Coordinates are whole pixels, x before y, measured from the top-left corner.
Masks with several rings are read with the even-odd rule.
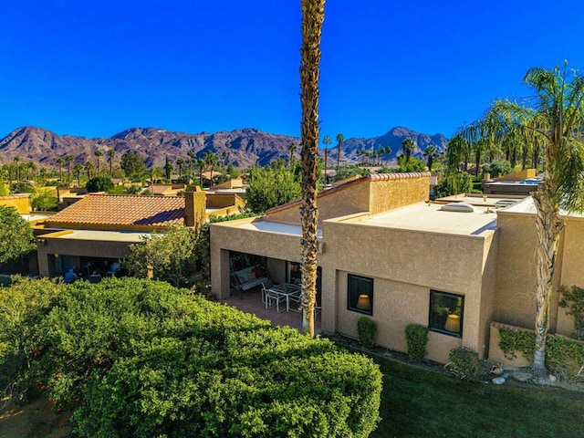
[[[377,322],[377,344],[406,351],[404,330],[413,322],[430,328],[431,360],[446,362],[461,346],[486,357],[493,321],[534,324],[533,203],[483,195],[428,203],[429,183],[430,173],[378,174],[319,193],[321,328],[357,338],[357,320],[368,316]],[[242,254],[261,258],[274,283],[294,281],[300,236],[298,202],[212,224],[214,293],[235,294],[233,261]],[[583,243],[584,220],[568,216],[558,285],[584,286]],[[573,322],[555,299],[551,331],[568,335]]]

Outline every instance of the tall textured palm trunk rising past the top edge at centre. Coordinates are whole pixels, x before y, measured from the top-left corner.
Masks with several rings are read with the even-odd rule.
[[[300,48],[300,101],[302,103],[302,329],[314,338],[314,308],[317,302],[317,156],[318,78],[320,76],[320,35],[325,16],[325,0],[301,0],[302,47]],[[342,143],[342,134],[337,140]],[[340,146],[339,146],[340,148]]]

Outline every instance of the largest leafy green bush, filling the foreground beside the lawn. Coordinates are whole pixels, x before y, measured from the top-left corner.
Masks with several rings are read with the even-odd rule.
[[[63,287],[43,383],[81,436],[366,437],[379,421],[380,370],[328,340],[166,283]]]

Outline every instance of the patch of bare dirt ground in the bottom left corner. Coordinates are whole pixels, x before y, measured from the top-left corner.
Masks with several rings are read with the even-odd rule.
[[[68,413],[53,412],[47,399],[0,412],[0,438],[63,438],[71,433]]]

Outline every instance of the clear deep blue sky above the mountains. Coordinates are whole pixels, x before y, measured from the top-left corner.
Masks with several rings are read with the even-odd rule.
[[[321,137],[447,137],[530,67],[584,68],[584,2],[328,0]],[[300,0],[0,0],[0,138],[26,125],[299,136]]]

